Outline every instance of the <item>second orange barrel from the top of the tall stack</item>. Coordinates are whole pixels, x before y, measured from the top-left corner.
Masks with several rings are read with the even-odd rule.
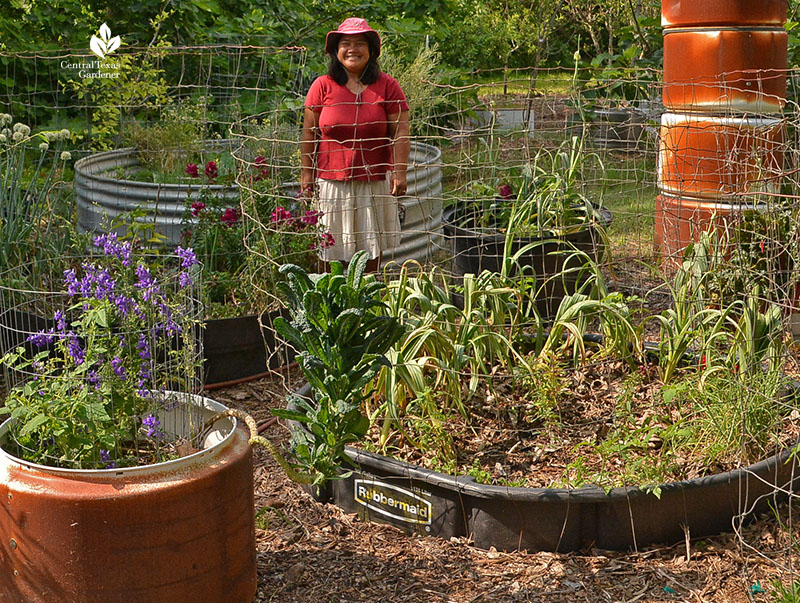
[[[786,104],[783,29],[664,32],[664,105],[677,111],[775,113]]]

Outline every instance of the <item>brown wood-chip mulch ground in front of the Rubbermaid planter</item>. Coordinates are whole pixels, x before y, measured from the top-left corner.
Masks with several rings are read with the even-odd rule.
[[[288,385],[296,383],[295,376]],[[287,382],[266,378],[209,392],[259,421],[282,404]],[[276,425],[265,432],[284,441]],[[767,602],[800,563],[800,536],[784,506],[738,532],[618,553],[503,553],[406,536],[319,504],[255,451],[258,594],[261,602],[693,601]],[[794,543],[794,544],[793,544]]]

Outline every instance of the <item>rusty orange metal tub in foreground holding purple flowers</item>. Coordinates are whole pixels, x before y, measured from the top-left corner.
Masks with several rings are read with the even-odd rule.
[[[192,398],[201,420],[225,409]],[[204,450],[141,467],[59,469],[0,448],[0,600],[252,601],[252,466],[247,432],[227,418]]]

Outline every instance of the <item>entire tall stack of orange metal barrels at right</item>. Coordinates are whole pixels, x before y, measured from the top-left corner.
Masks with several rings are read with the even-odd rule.
[[[655,242],[667,266],[722,228],[783,166],[785,0],[663,0],[664,81]],[[763,199],[761,199],[763,203]]]

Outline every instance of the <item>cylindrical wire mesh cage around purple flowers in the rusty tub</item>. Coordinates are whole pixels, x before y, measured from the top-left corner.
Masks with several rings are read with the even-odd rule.
[[[21,458],[109,469],[203,447],[193,395],[202,384],[199,271],[162,271],[163,256],[138,257],[135,267],[129,254],[121,264],[103,259],[50,258],[0,277],[0,354],[14,392],[7,406],[24,419],[6,444]],[[40,405],[49,440],[17,398]]]

